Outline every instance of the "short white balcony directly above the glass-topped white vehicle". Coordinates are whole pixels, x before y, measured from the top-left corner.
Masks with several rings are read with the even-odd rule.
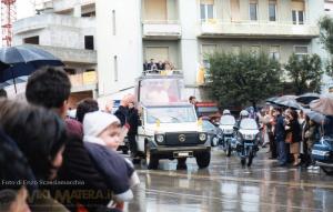
[[[143,39],[178,40],[181,38],[181,24],[176,20],[142,21]]]

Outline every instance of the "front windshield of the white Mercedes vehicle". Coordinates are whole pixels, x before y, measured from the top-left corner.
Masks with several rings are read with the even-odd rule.
[[[193,107],[153,107],[147,109],[147,122],[155,123],[196,122]]]

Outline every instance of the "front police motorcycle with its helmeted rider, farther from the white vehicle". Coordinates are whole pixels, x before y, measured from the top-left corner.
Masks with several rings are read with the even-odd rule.
[[[248,111],[241,111],[241,120],[234,127],[236,134],[236,153],[241,158],[244,166],[248,160],[248,166],[251,166],[253,158],[259,151],[260,128],[254,119],[249,118]]]

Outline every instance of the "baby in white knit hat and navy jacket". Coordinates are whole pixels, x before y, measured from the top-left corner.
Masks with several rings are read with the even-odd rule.
[[[84,147],[114,191],[118,208],[122,209],[123,202],[133,198],[130,188],[138,182],[138,176],[133,166],[115,152],[121,142],[119,119],[100,111],[88,113],[83,121],[83,132]]]

